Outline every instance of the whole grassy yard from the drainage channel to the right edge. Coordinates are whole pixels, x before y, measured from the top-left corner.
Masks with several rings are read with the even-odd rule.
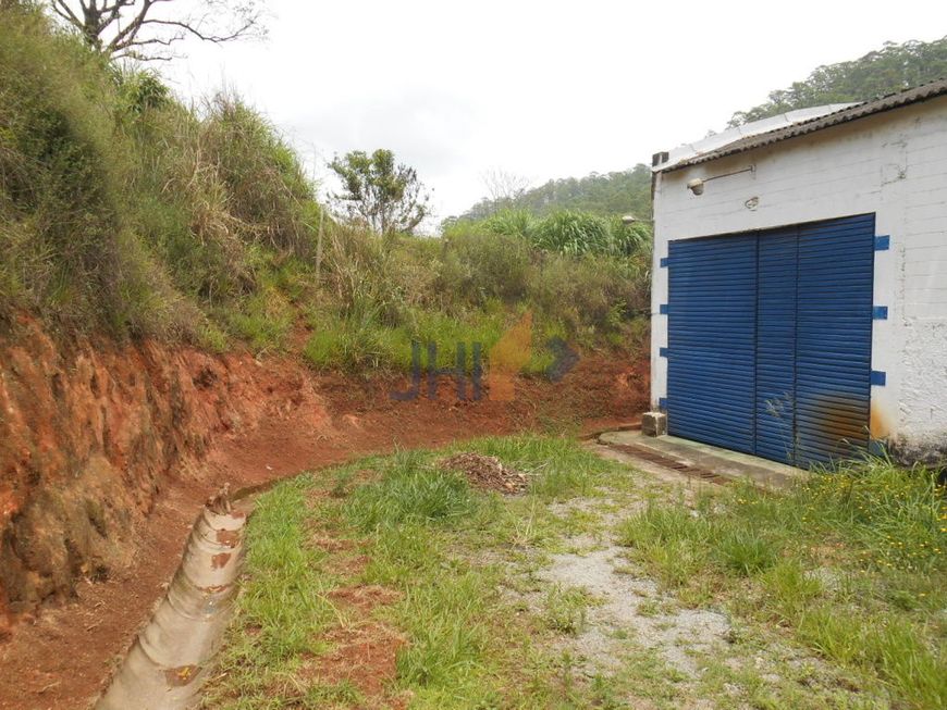
[[[529,473],[529,491],[471,488],[438,465],[458,450]],[[943,707],[940,562],[863,555],[888,548],[832,509],[893,484],[871,479],[871,468],[841,475],[856,479],[813,477],[776,495],[729,487],[691,508],[656,484],[631,485],[626,468],[575,441],[524,435],[300,476],[265,494],[250,521],[245,594],[205,707],[669,709],[705,698],[723,708]],[[927,485],[923,471],[897,475]],[[839,495],[846,486],[851,494]],[[923,530],[931,501],[903,490],[896,500],[898,524]],[[681,607],[706,603],[730,611],[728,643],[713,656],[693,649],[696,676],[625,627],[608,636],[614,672],[590,672],[576,648],[591,623],[602,631],[588,613],[598,601],[541,573],[623,505],[641,506],[615,530],[632,558],[627,571],[643,569],[674,593],[642,601],[642,618],[667,614],[671,624]],[[813,520],[816,507],[828,510]],[[339,594],[367,585],[386,601],[352,607]],[[341,643],[327,639],[353,625],[402,639],[381,695],[357,675],[319,675]]]

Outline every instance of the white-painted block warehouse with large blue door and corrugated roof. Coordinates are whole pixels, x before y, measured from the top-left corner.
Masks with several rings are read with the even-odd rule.
[[[947,453],[947,80],[657,153],[652,409],[808,468]]]

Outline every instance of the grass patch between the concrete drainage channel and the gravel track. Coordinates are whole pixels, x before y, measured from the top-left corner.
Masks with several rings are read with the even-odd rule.
[[[511,499],[471,489],[438,468],[462,448],[530,472],[533,489]],[[619,469],[568,439],[516,436],[373,457],[278,485],[250,519],[245,591],[204,707],[378,707],[407,693],[411,708],[534,708],[578,697],[563,689],[543,639],[577,633],[592,600],[556,589],[541,615],[524,615],[502,594],[508,572],[477,560],[553,538],[562,523],[544,501],[589,493]],[[311,543],[317,534],[356,549],[323,551]],[[340,556],[364,564],[340,565]],[[396,598],[367,611],[333,601],[333,590],[353,585]],[[373,619],[405,638],[384,698],[307,670],[346,619]]]

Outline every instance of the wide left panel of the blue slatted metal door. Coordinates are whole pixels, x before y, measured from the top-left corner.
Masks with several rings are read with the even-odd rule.
[[[753,452],[757,237],[668,245],[668,433]]]

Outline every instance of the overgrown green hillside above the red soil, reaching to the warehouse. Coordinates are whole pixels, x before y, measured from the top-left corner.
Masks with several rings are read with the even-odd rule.
[[[631,347],[648,252],[592,228],[575,248],[573,222],[541,241],[471,224],[430,239],[323,214],[239,97],[185,104],[41,7],[0,3],[0,331],[27,313],[65,335],[407,369],[411,340],[489,349],[529,311],[537,344]]]

